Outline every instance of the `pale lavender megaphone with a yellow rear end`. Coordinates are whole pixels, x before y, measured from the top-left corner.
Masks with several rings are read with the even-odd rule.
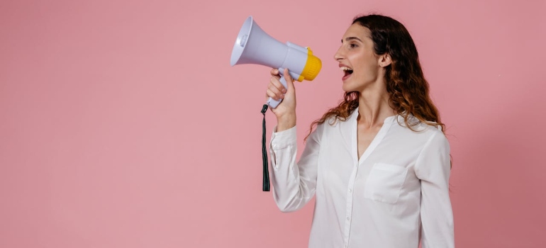
[[[239,30],[231,51],[230,64],[231,66],[235,64],[262,64],[278,68],[281,74],[285,68],[288,68],[290,76],[297,81],[315,79],[322,67],[321,60],[313,55],[311,49],[275,40],[256,24],[252,16],[245,20],[243,27]],[[286,88],[284,77],[281,77],[280,81]],[[275,101],[269,98],[267,105],[277,108],[281,101],[282,99]]]

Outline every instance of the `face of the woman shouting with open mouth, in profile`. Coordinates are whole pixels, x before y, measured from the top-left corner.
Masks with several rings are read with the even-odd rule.
[[[380,57],[374,53],[374,42],[370,38],[368,28],[360,24],[352,24],[341,40],[341,47],[335,53],[334,59],[344,72],[343,90],[346,92],[360,91],[384,77],[380,66]]]

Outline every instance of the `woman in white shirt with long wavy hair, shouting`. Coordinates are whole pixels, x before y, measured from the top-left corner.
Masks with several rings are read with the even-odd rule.
[[[355,18],[334,59],[345,98],[316,120],[296,163],[296,95],[272,70],[274,200],[298,210],[316,195],[309,247],[455,247],[450,146],[404,26]]]

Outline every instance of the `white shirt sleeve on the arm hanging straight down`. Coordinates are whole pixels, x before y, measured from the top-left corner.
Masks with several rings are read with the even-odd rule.
[[[421,182],[420,218],[423,248],[455,247],[450,201],[450,144],[437,131],[428,140],[416,162]]]

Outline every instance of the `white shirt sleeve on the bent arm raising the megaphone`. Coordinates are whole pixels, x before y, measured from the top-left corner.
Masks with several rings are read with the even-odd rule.
[[[321,145],[322,125],[309,135],[303,153],[296,163],[296,127],[276,133],[270,143],[273,198],[279,210],[299,210],[316,191],[318,152]]]

